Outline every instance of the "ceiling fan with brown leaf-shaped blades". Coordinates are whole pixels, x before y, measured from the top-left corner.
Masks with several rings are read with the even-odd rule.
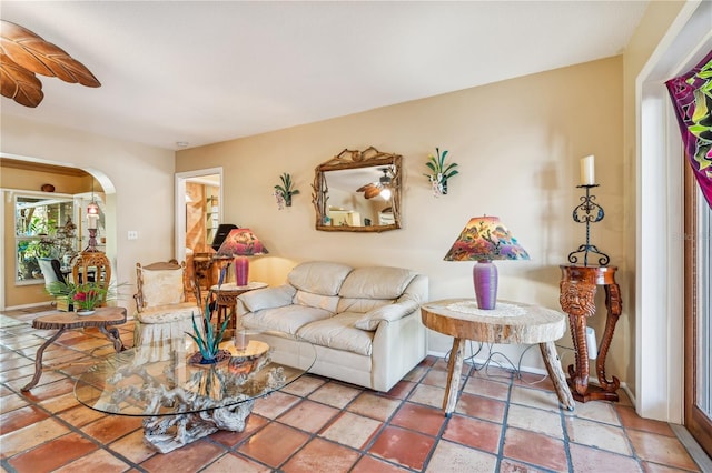
[[[36,73],[65,82],[101,87],[81,62],[32,31],[0,20],[0,91],[3,97],[34,108],[44,99]]]

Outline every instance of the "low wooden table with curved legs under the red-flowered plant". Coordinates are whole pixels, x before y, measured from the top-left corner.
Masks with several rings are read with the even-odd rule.
[[[96,326],[113,343],[113,350],[118,353],[123,350],[119,330],[115,326],[107,329],[107,326],[119,325],[125,322],[126,309],[123,308],[99,308],[97,312],[91,315],[77,315],[75,312],[53,312],[34,319],[32,321],[33,329],[57,330],[57,333],[47,342],[42,343],[42,346],[37,350],[37,355],[34,356],[34,376],[22,388],[22,391],[31,390],[40,381],[40,376],[42,375],[42,354],[65,331]]]

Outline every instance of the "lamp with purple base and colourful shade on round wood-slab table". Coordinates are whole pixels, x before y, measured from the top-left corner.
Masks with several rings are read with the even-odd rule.
[[[527,252],[498,217],[473,217],[445,255],[445,261],[477,261],[472,271],[477,306],[492,310],[497,302],[497,266],[493,260],[528,260]]]

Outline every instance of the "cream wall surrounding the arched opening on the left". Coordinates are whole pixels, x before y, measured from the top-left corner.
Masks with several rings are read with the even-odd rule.
[[[174,152],[9,115],[2,115],[1,138],[3,155],[80,168],[99,179],[106,190],[107,254],[112,279],[122,284],[119,304],[134,306],[136,262],[174,255]],[[128,240],[129,230],[139,239]]]

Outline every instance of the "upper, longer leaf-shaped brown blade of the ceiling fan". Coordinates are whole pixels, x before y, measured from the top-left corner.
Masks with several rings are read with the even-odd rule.
[[[2,21],[0,47],[18,66],[65,82],[100,87],[99,80],[81,62],[61,48],[44,41],[32,31],[10,21]]]

